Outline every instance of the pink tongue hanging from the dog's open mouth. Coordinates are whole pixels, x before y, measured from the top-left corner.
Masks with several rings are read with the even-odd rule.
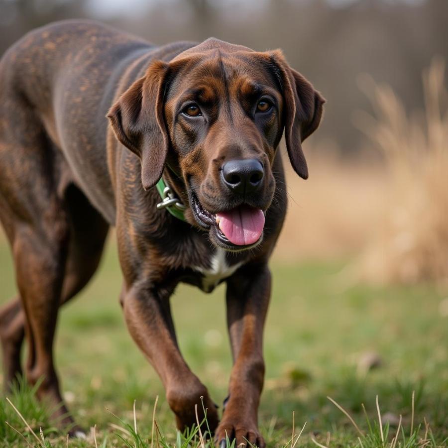
[[[264,213],[259,209],[240,206],[216,216],[226,238],[238,246],[253,244],[263,231]]]

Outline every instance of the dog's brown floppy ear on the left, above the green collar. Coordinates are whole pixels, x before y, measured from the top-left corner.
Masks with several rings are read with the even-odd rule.
[[[168,64],[156,61],[135,81],[107,114],[116,138],[141,162],[141,182],[147,190],[162,176],[169,137],[163,116],[164,81]]]

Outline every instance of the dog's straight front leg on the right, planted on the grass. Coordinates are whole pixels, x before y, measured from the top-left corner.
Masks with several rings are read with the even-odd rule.
[[[229,397],[216,432],[220,447],[225,437],[235,447],[265,447],[258,431],[258,404],[263,388],[263,327],[269,304],[271,275],[266,265],[248,267],[227,281],[227,325],[233,354]],[[224,440],[224,443],[223,443]]]

